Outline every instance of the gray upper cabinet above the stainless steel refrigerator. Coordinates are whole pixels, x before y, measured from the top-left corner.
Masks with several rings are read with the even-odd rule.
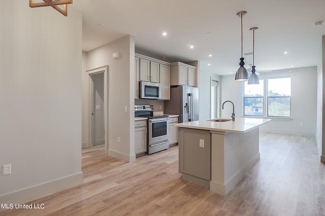
[[[196,86],[196,67],[182,62],[172,63],[171,85]]]

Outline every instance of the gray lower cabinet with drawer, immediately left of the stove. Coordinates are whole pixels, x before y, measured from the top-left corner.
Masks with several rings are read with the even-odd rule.
[[[147,151],[147,121],[135,121],[135,154]]]

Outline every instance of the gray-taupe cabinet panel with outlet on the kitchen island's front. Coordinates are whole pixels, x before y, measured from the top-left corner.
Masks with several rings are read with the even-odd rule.
[[[210,131],[179,127],[179,172],[211,180]]]

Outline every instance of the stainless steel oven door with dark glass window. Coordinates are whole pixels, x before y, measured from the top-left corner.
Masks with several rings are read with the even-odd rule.
[[[149,145],[168,140],[169,119],[149,119]]]

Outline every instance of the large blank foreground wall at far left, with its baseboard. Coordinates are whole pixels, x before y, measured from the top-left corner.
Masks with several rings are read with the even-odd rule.
[[[0,203],[82,182],[82,16],[0,1]]]

